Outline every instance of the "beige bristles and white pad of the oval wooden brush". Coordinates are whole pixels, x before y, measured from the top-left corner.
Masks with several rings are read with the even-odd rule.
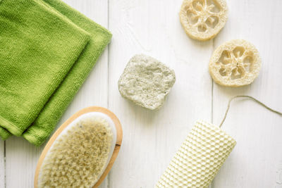
[[[44,158],[38,187],[92,187],[102,175],[113,140],[109,123],[92,116],[69,126]]]

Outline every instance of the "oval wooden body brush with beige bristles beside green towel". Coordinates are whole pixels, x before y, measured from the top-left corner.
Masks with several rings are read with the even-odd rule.
[[[116,115],[88,107],[53,134],[35,170],[35,188],[99,187],[111,170],[123,132]]]

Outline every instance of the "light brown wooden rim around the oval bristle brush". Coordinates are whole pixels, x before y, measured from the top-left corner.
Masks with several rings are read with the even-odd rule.
[[[104,173],[102,173],[101,177],[99,177],[99,180],[96,182],[96,184],[94,184],[93,188],[97,188],[97,187],[99,187],[100,184],[102,184],[106,175],[109,174],[109,171],[111,170],[111,167],[113,166],[114,161],[116,161],[116,157],[118,156],[118,151],[121,149],[121,142],[122,142],[122,139],[123,139],[123,130],[122,130],[120,121],[118,120],[116,115],[114,115],[114,113],[112,113],[111,111],[109,111],[106,108],[102,108],[102,107],[99,107],[99,106],[90,106],[90,107],[87,107],[87,108],[83,108],[82,110],[73,114],[71,116],[71,118],[68,118],[68,120],[66,120],[66,122],[64,122],[58,128],[58,130],[56,130],[56,132],[54,132],[54,134],[51,136],[51,138],[49,139],[49,142],[46,144],[44,150],[42,151],[41,156],[39,157],[39,160],[38,160],[38,163],[37,163],[37,167],[36,167],[36,170],[35,170],[35,178],[34,178],[35,179],[35,182],[34,182],[35,188],[38,187],[39,173],[40,173],[40,169],[42,167],[42,163],[44,161],[44,158],[46,157],[49,149],[54,144],[57,137],[59,137],[61,132],[63,132],[63,130],[65,130],[66,127],[68,127],[68,125],[70,125],[71,123],[73,123],[73,121],[75,119],[80,117],[80,115],[83,115],[85,113],[91,113],[91,112],[104,113],[109,118],[111,118],[111,120],[114,122],[114,125],[116,127],[116,145],[114,147],[114,152],[111,156],[111,159],[110,159],[108,165],[106,166],[106,169],[104,170]]]

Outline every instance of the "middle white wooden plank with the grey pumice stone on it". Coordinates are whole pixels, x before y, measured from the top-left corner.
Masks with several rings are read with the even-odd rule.
[[[180,25],[178,1],[109,1],[109,108],[123,125],[123,144],[110,187],[154,187],[198,119],[211,120],[212,41],[196,42]],[[147,54],[176,72],[176,84],[159,111],[123,99],[118,79],[135,54]]]

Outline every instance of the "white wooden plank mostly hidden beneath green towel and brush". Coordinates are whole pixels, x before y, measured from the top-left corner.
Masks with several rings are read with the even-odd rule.
[[[107,1],[75,1],[66,3],[84,13],[104,27],[108,25]],[[73,113],[87,106],[107,106],[108,83],[108,50],[99,58],[90,77],[83,84],[75,99],[64,113],[58,126]],[[12,137],[6,141],[6,187],[33,187],[33,179],[37,160],[44,146],[32,146],[21,138]],[[0,146],[1,152],[1,146]],[[1,153],[0,153],[1,155]],[[1,159],[1,156],[0,156]],[[1,162],[0,162],[1,165]],[[1,174],[1,173],[0,173]],[[1,177],[1,175],[0,175]],[[0,182],[1,187],[1,182]],[[107,179],[100,187],[107,187]]]

